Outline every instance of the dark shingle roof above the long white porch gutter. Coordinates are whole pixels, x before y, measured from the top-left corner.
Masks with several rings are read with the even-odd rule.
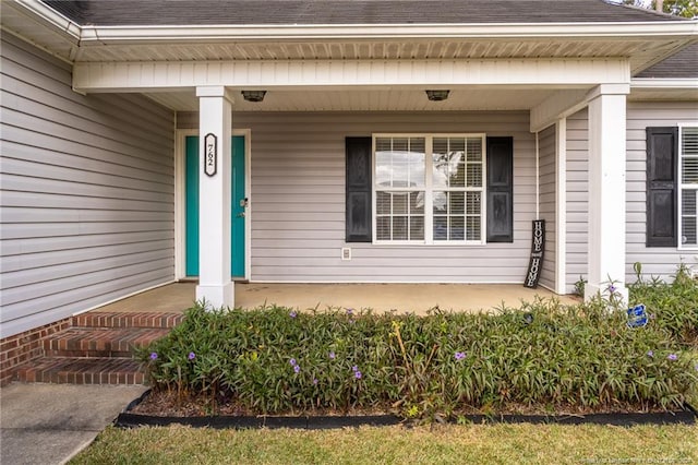
[[[81,25],[495,24],[683,21],[605,0],[43,0]]]

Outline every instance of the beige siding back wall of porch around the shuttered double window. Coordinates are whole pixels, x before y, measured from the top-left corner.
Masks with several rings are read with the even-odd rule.
[[[181,129],[197,114],[178,114]],[[535,215],[528,112],[248,112],[252,276],[256,282],[522,283]],[[374,132],[514,136],[514,242],[479,247],[345,242],[345,138]],[[341,261],[342,247],[352,259]]]

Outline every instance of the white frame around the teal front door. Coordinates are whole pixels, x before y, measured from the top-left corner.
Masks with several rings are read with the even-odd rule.
[[[244,278],[252,276],[252,131],[233,129],[232,135],[244,136],[244,191],[248,196],[244,222]],[[197,129],[178,129],[174,134],[174,278],[186,278],[186,215],[185,215],[185,140],[190,135],[200,135]]]

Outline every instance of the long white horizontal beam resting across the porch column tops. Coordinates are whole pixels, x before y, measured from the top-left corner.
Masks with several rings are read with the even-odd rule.
[[[200,86],[522,85],[590,87],[629,82],[626,59],[298,60],[82,62],[73,87],[94,92],[155,92]]]

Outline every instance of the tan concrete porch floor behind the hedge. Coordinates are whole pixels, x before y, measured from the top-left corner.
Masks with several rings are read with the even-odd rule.
[[[146,290],[100,307],[109,312],[178,312],[192,306],[195,283],[174,283]],[[298,310],[317,308],[397,310],[424,314],[442,310],[481,311],[502,307],[519,307],[537,296],[557,298],[562,303],[576,303],[573,296],[556,296],[539,287],[529,289],[516,284],[269,284],[236,283],[236,307],[256,308],[277,305]]]

